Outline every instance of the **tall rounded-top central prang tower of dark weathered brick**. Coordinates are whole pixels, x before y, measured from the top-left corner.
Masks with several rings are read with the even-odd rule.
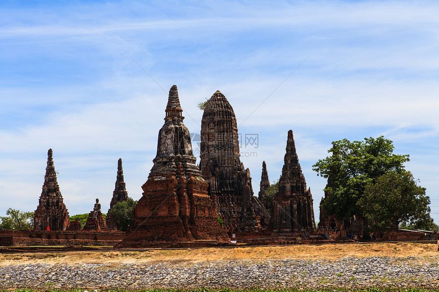
[[[204,109],[200,152],[201,172],[225,227],[237,231],[266,227],[270,214],[253,196],[250,170],[239,159],[235,113],[220,91],[212,95]]]

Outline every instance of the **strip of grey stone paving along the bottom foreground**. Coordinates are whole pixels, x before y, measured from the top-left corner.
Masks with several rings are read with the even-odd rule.
[[[221,260],[0,267],[0,288],[439,287],[439,258]]]

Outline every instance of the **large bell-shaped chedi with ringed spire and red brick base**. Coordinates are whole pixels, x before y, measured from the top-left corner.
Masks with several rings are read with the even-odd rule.
[[[226,242],[192,154],[189,130],[183,124],[177,86],[169,90],[165,123],[159,131],[157,155],[143,196],[134,209],[131,232],[120,246],[160,246],[194,240]]]

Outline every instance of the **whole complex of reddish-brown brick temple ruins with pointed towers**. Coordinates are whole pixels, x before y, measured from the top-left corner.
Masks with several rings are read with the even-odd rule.
[[[328,214],[325,200],[330,201],[331,194],[327,190],[320,203],[316,230],[313,199],[299,164],[292,130],[287,135],[278,191],[271,200],[265,198],[271,187],[265,161],[260,190],[254,196],[250,170],[240,161],[236,117],[220,91],[212,95],[203,112],[200,166],[196,164],[182,112],[174,85],[169,90],[154,165],[141,187],[142,197],[133,210],[134,219],[127,233],[116,230],[117,222],[110,215],[118,202],[129,199],[121,159],[106,220],[96,199],[81,228],[80,221],[69,221],[57,182],[53,151],[49,149],[34,230],[0,230],[0,242],[9,246],[205,247],[347,242],[363,235],[363,218],[337,220]],[[325,189],[331,181],[328,177]],[[424,231],[404,232],[391,232],[380,241],[427,238]]]

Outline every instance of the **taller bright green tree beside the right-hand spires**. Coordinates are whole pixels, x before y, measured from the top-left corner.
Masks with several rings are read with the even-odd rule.
[[[393,142],[378,138],[350,142],[347,139],[332,142],[331,156],[313,165],[318,175],[328,179],[325,191],[329,196],[323,207],[338,220],[353,215],[362,216],[358,200],[366,186],[388,171],[400,173],[408,155],[393,153]]]

